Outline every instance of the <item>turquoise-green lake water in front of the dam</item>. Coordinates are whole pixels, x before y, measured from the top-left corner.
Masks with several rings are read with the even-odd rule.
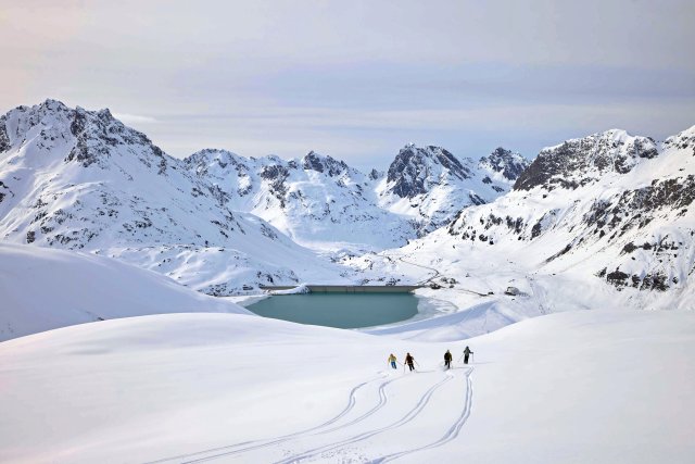
[[[264,317],[338,328],[359,328],[405,321],[417,314],[412,293],[278,294],[247,306]]]

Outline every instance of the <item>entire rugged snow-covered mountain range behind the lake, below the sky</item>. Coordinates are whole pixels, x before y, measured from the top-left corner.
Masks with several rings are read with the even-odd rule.
[[[361,281],[331,261],[444,236],[530,247],[539,265],[587,266],[617,288],[682,288],[695,261],[694,138],[608,130],[532,163],[407,145],[365,174],[315,152],[178,160],[109,110],[47,100],[0,117],[0,239],[106,254],[212,294]]]

